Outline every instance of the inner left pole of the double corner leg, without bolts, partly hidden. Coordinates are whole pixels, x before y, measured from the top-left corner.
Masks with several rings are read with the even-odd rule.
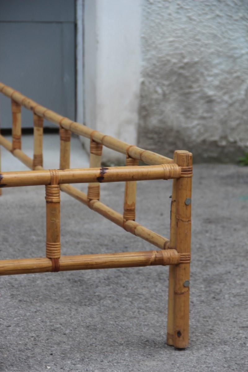
[[[177,152],[174,152],[174,163],[177,162]],[[175,249],[175,232],[176,232],[176,220],[175,220],[175,197],[176,197],[176,185],[177,180],[173,180],[172,195],[171,195],[171,215],[170,215],[170,244],[169,248]],[[169,286],[168,286],[168,310],[167,310],[167,345],[174,345],[174,274],[175,266],[170,265],[169,267]]]

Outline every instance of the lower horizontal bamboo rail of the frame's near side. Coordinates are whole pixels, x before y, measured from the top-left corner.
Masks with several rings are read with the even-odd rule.
[[[119,267],[142,267],[171,265],[180,262],[176,250],[85,254],[62,256],[58,259],[59,271],[115,269]],[[48,258],[32,258],[0,261],[0,275],[52,272],[52,261]]]

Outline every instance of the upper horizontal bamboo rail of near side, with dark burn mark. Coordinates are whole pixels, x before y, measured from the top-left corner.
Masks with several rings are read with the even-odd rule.
[[[1,141],[0,144],[4,143]],[[15,150],[14,155],[32,169],[33,161],[21,150]],[[173,179],[181,176],[181,168],[177,164],[161,164],[154,166],[132,167],[102,167],[86,169],[58,170],[58,183],[89,183],[89,182],[122,182],[139,180]],[[0,183],[2,187],[48,185],[49,170],[3,172]],[[3,186],[3,184],[5,184]]]

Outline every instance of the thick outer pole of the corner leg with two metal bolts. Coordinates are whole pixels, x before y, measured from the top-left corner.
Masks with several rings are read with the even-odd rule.
[[[181,177],[175,181],[175,248],[181,263],[174,269],[174,347],[184,349],[189,343],[192,154],[175,151],[175,156],[182,168]]]

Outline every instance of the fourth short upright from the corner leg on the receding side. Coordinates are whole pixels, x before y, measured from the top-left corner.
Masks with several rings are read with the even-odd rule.
[[[43,118],[33,113],[33,170],[36,166],[43,166]]]

